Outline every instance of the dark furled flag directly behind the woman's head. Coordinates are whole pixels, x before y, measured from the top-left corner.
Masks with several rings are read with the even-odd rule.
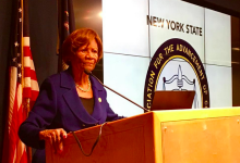
[[[75,20],[73,12],[73,1],[72,0],[60,0],[58,1],[58,29],[59,29],[59,41],[58,49],[59,59],[58,59],[58,71],[64,71],[68,68],[68,65],[62,61],[61,57],[61,46],[65,38],[75,30]]]

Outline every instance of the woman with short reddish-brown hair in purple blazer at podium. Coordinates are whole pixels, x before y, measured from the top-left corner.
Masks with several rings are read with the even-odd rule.
[[[67,133],[122,118],[110,109],[104,87],[84,73],[93,71],[103,58],[99,36],[88,28],[73,32],[62,45],[62,57],[70,67],[43,83],[19,130],[21,140],[37,149],[34,163],[46,162],[45,140],[61,153]]]

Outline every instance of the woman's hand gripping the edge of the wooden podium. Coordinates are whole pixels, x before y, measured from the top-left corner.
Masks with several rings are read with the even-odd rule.
[[[61,153],[63,151],[63,139],[67,138],[67,131],[62,128],[46,129],[39,133],[40,140],[48,140],[53,147],[55,152]]]

